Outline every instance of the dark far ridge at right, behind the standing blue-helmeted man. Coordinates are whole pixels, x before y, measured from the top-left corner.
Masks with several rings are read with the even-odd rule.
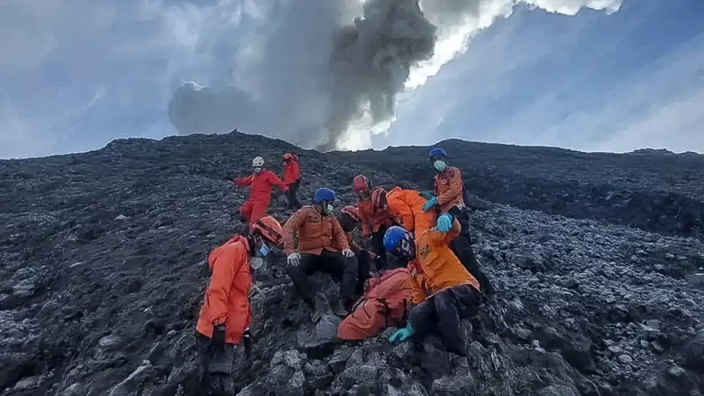
[[[704,240],[703,155],[650,149],[583,153],[462,140],[437,146],[448,150],[467,188],[491,202]],[[432,180],[428,151],[394,147],[335,156],[397,178]]]

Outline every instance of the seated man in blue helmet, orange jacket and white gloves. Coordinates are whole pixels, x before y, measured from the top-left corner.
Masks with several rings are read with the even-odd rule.
[[[284,253],[287,272],[303,302],[313,310],[313,322],[322,316],[323,303],[313,290],[308,276],[315,272],[329,273],[340,280],[340,295],[332,309],[337,316],[346,316],[354,302],[357,260],[349,247],[337,218],[332,216],[335,193],[327,188],[315,190],[313,205],[303,206],[284,224]],[[294,235],[298,233],[298,249]]]

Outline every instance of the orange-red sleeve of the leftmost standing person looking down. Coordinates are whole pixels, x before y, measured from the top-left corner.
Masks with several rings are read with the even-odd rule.
[[[210,320],[213,324],[227,321],[227,307],[230,305],[230,288],[237,268],[241,263],[241,249],[238,245],[230,245],[225,252],[219,254],[214,260],[213,275],[208,284],[208,299],[210,300]]]

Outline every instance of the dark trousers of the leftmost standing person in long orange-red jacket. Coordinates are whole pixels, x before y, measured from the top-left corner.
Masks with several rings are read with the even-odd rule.
[[[210,346],[210,338],[196,331],[198,351],[199,396],[234,395],[234,344],[225,344],[221,349]]]

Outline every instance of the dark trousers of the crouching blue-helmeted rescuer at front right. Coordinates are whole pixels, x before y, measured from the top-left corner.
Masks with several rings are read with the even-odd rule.
[[[470,285],[448,287],[410,309],[408,321],[415,336],[422,338],[436,331],[448,352],[467,356],[460,318],[476,315],[481,302],[481,293]]]

